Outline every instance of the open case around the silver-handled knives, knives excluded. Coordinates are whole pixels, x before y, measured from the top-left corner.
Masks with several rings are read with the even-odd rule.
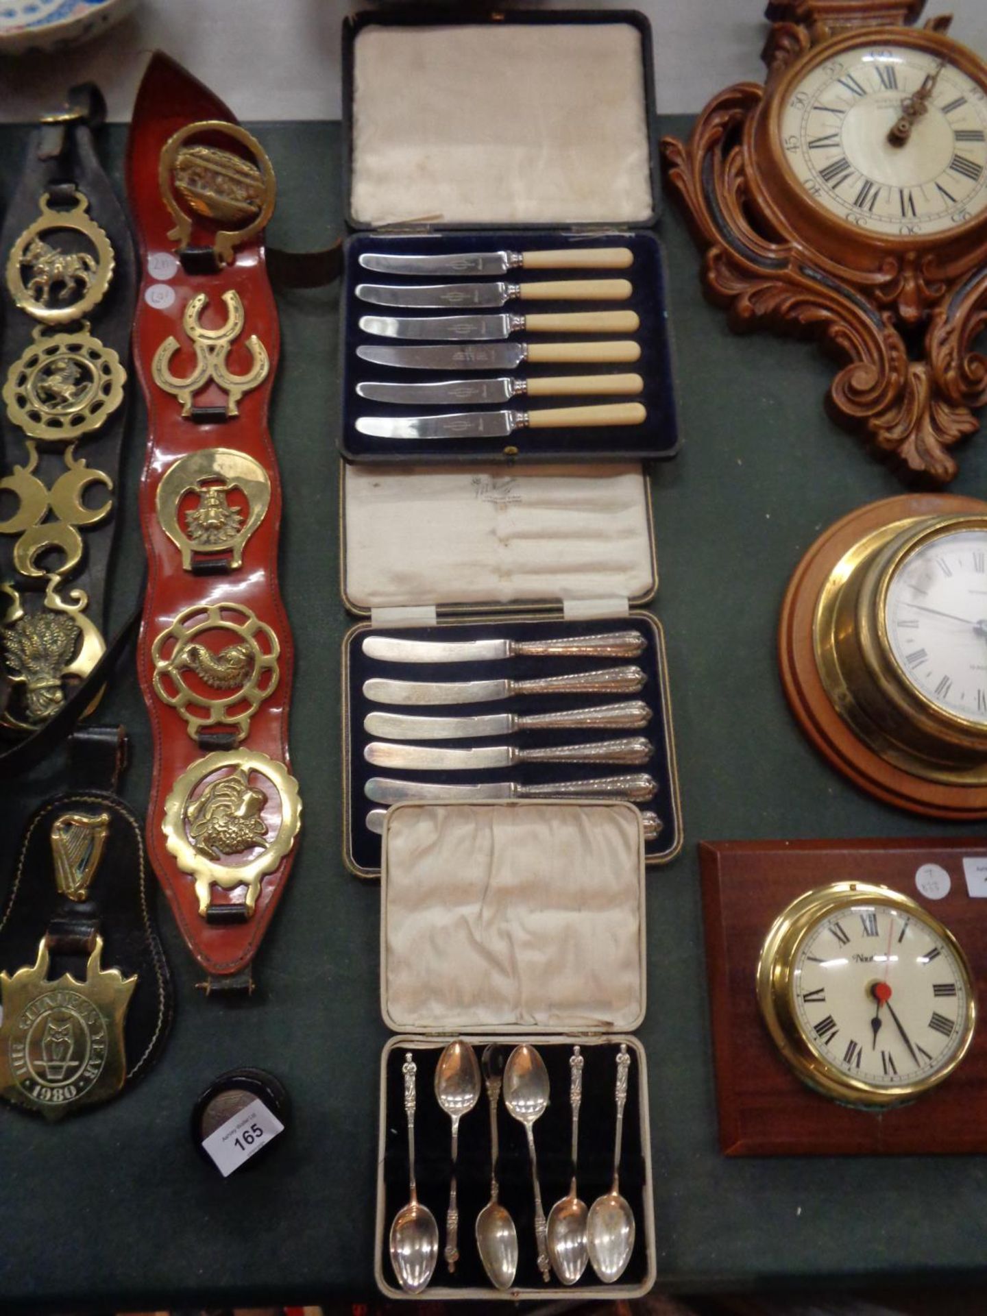
[[[343,858],[358,876],[380,871],[380,836],[367,819],[380,805],[366,796],[370,778],[457,787],[517,782],[570,783],[646,772],[657,783],[641,808],[661,830],[645,848],[647,863],[671,859],[682,846],[671,703],[661,624],[642,607],[657,588],[658,567],[649,482],[641,466],[362,467],[343,465],[342,594],[354,625],[342,646]],[[412,641],[517,641],[637,632],[632,658],[509,657],[488,661],[392,662],[367,657],[367,636]],[[475,703],[393,704],[367,699],[371,678],[411,682],[540,679],[637,666],[642,688],[619,694],[511,694]],[[650,720],[637,730],[521,729],[495,736],[422,740],[416,746],[517,749],[592,745],[645,737],[641,765],[522,762],[483,770],[425,771],[371,766],[365,747],[372,711],[468,717],[541,715],[642,700]]]

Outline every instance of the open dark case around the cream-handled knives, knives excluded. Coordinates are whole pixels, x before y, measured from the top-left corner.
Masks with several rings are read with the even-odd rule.
[[[338,442],[350,462],[566,462],[672,457],[678,426],[661,245],[649,229],[659,208],[651,32],[630,11],[515,9],[453,14],[403,5],[343,24],[343,195],[347,224],[341,313]],[[494,275],[403,275],[363,268],[361,255],[453,255],[628,247],[626,268],[512,268]],[[503,307],[418,309],[375,305],[361,283],[408,288],[463,282],[544,283],[628,279],[626,300],[519,300]],[[515,368],[415,370],[374,365],[368,346],[416,346],[361,329],[367,315],[445,317],[630,311],[624,333],[538,333],[505,341],[633,340],[640,358],[612,363],[528,363]],[[429,345],[437,340],[421,340]],[[446,342],[450,349],[465,341]],[[371,382],[436,384],[511,376],[637,374],[640,392],[521,395],[505,401],[382,403],[355,390]],[[596,386],[600,380],[596,379]],[[604,384],[604,387],[607,387]],[[608,403],[642,403],[634,425],[521,425],[511,433],[396,438],[361,433],[359,417],[474,416]]]

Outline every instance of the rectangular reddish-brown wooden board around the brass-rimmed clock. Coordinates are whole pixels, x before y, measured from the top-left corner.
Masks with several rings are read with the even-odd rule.
[[[983,1004],[987,923],[984,901],[973,891],[979,892],[976,874],[987,866],[984,838],[716,841],[700,844],[699,859],[724,1155],[987,1153],[983,1025],[941,1087],[909,1105],[862,1111],[796,1078],[769,1034],[755,990],[765,937],[790,901],[829,882],[869,882],[911,896],[946,924],[970,961]],[[974,874],[973,891],[967,871]],[[932,895],[923,894],[924,873],[936,878],[934,887],[924,887]]]

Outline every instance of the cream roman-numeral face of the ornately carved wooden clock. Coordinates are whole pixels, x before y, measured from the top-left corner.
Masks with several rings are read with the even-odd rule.
[[[792,87],[779,122],[800,187],[862,232],[928,237],[987,215],[987,96],[938,54],[845,50]]]

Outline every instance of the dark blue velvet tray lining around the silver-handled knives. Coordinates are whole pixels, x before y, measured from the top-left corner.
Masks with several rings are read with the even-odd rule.
[[[613,659],[599,658],[509,658],[494,662],[443,662],[443,663],[397,663],[367,658],[362,649],[363,636],[371,632],[368,624],[354,626],[343,642],[343,663],[347,674],[347,707],[343,709],[345,762],[349,763],[349,800],[346,817],[347,861],[363,874],[378,874],[380,870],[380,837],[366,825],[367,812],[380,808],[366,797],[365,787],[371,776],[400,778],[403,780],[434,782],[446,786],[468,786],[475,782],[512,780],[522,784],[536,782],[578,782],[592,776],[616,776],[626,772],[649,772],[658,783],[658,791],[651,800],[641,804],[642,809],[653,811],[662,822],[655,841],[645,845],[645,857],[651,863],[671,858],[680,844],[680,819],[678,807],[678,786],[675,780],[671,722],[667,715],[669,692],[665,670],[665,645],[657,620],[650,613],[632,613],[630,617],[616,617],[596,621],[562,620],[519,620],[471,621],[463,624],[443,624],[442,626],[408,626],[392,632],[407,640],[544,640],[563,636],[605,634],[616,630],[640,630],[646,640],[644,651],[630,662],[642,669],[646,676],[644,688],[637,695],[555,695],[530,696],[515,695],[504,700],[491,700],[482,704],[434,704],[434,705],[393,705],[378,704],[363,694],[363,683],[370,676],[388,676],[397,680],[491,680],[513,678],[524,680],[536,676],[562,675],[565,672],[595,671],[608,666],[624,666]],[[467,717],[479,713],[534,713],[555,712],[571,708],[590,708],[596,704],[620,703],[625,699],[644,700],[651,709],[651,720],[638,732],[616,730],[551,730],[516,732],[511,736],[486,736],[455,741],[418,741],[446,749],[472,749],[483,745],[516,745],[534,747],[542,745],[575,745],[580,742],[616,740],[624,736],[644,736],[654,746],[651,758],[637,767],[622,765],[592,763],[515,763],[507,769],[486,769],[465,772],[411,772],[397,769],[375,767],[363,757],[363,747],[374,740],[363,729],[363,719],[375,709],[411,713],[433,717]]]

